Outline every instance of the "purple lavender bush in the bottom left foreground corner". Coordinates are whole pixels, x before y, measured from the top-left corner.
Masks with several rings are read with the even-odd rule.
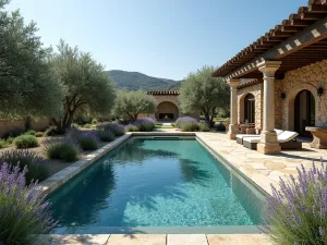
[[[23,171],[0,162],[0,244],[33,245],[38,234],[48,233],[56,222],[50,204],[39,195],[35,184],[25,185]]]

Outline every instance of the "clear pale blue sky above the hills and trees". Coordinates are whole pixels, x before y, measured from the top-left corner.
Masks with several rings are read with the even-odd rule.
[[[60,38],[106,70],[182,79],[218,68],[307,0],[12,0],[45,46]]]

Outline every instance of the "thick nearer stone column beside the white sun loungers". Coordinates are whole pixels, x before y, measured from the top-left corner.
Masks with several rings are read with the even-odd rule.
[[[264,117],[261,142],[257,151],[262,154],[278,154],[280,146],[277,142],[275,127],[275,73],[280,68],[281,61],[263,61],[257,64],[264,74]]]

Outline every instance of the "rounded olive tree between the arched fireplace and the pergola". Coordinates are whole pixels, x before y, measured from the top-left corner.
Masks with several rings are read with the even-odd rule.
[[[203,113],[214,124],[216,109],[229,107],[230,90],[220,77],[213,77],[214,66],[203,66],[182,83],[180,103],[183,113]]]

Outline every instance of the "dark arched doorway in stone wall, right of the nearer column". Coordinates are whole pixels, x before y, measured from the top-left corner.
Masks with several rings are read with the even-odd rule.
[[[311,136],[306,126],[315,125],[315,97],[310,90],[301,90],[294,100],[294,131],[301,136]]]

